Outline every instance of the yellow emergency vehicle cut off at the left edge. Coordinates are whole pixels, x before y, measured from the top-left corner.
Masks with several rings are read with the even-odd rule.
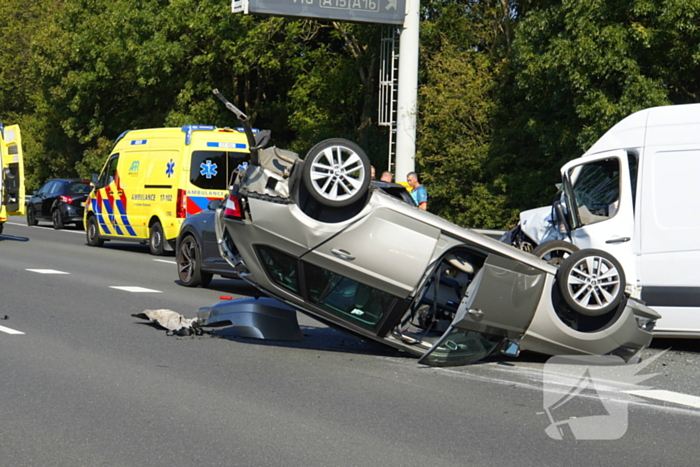
[[[7,216],[24,215],[24,160],[19,125],[0,123],[0,234]]]

